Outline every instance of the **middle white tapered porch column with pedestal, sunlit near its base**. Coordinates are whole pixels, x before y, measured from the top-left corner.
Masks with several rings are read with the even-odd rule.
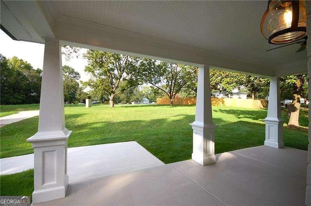
[[[216,162],[214,149],[216,125],[212,120],[210,94],[209,66],[202,65],[199,67],[195,121],[191,124],[193,129],[192,159],[202,165]]]

